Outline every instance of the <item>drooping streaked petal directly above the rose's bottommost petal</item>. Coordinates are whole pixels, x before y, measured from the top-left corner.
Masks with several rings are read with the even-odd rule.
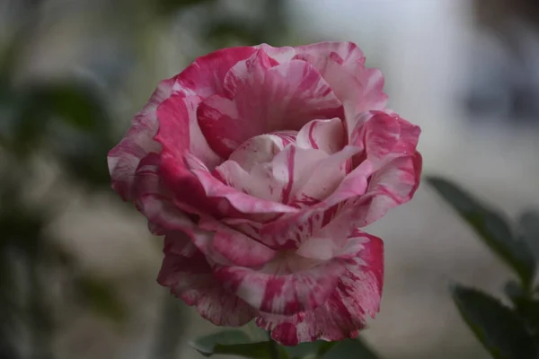
[[[266,267],[275,268],[271,262]],[[219,267],[215,276],[226,290],[256,310],[292,315],[312,311],[322,305],[334,291],[343,270],[340,260],[331,259],[291,274],[276,275],[264,269],[245,267]]]

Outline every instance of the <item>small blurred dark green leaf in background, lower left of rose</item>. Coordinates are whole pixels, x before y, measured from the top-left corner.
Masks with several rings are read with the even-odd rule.
[[[79,302],[95,313],[118,322],[126,318],[125,305],[110,283],[92,276],[80,276],[75,280],[75,291]]]

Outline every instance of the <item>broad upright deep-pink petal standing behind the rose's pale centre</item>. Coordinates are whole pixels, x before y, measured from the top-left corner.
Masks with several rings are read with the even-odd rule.
[[[341,104],[314,66],[291,61],[271,66],[263,51],[225,78],[227,93],[203,101],[199,124],[222,157],[244,141],[278,130],[298,130],[314,118],[334,118]]]

